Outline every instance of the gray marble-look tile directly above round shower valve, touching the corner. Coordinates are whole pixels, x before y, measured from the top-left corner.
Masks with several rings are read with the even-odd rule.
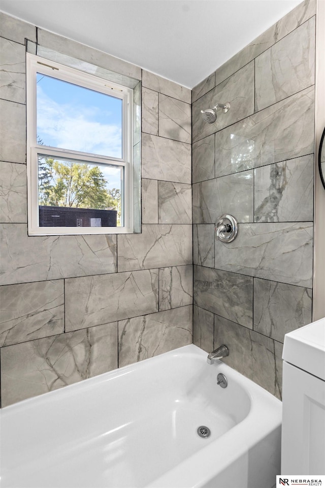
[[[243,171],[193,185],[193,223],[215,223],[222,214],[253,222],[253,171]]]

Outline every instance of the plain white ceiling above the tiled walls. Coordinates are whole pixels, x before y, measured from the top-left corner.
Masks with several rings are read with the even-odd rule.
[[[301,0],[1,0],[1,10],[192,88]]]

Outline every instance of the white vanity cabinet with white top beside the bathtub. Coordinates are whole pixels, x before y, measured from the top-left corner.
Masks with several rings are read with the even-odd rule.
[[[283,346],[281,473],[325,473],[325,319],[289,332]]]

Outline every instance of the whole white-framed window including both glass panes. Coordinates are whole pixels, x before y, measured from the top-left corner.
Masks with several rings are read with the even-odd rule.
[[[133,89],[27,53],[29,235],[133,232]]]

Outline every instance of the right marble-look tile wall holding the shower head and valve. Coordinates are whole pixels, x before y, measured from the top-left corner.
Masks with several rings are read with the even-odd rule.
[[[305,0],[192,90],[193,342],[228,345],[225,362],[279,398],[284,334],[312,318],[314,83]],[[214,236],[225,213],[230,244]]]

